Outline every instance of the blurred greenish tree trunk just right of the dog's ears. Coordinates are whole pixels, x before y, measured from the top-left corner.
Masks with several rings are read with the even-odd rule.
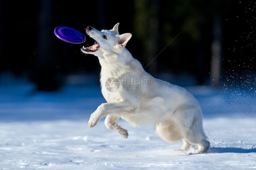
[[[158,0],[136,0],[134,31],[138,39],[143,42],[143,60],[146,60],[145,68],[150,74],[155,76],[157,72],[158,33],[159,33],[159,2]],[[154,61],[153,61],[154,60]]]

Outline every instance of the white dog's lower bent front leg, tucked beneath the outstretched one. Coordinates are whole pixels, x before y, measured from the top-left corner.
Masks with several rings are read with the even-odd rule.
[[[118,119],[119,117],[116,117],[114,115],[107,115],[104,123],[109,130],[114,131],[115,133],[123,136],[124,138],[128,138],[127,130],[121,128],[118,124],[116,124]]]

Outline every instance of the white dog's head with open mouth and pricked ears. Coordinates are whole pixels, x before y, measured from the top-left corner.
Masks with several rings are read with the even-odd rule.
[[[111,30],[98,31],[91,26],[87,26],[86,33],[95,40],[95,43],[91,47],[81,48],[83,53],[94,54],[98,57],[102,57],[104,54],[121,53],[126,46],[132,34],[125,33],[119,35],[117,23]]]

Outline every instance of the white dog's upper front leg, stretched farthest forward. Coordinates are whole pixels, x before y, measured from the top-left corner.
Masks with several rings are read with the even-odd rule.
[[[92,128],[93,126],[95,126],[100,118],[104,115],[108,115],[110,113],[119,115],[121,112],[135,112],[136,109],[138,109],[138,106],[134,106],[128,101],[102,103],[101,105],[99,105],[96,111],[91,114],[90,120],[88,122],[88,127]]]

